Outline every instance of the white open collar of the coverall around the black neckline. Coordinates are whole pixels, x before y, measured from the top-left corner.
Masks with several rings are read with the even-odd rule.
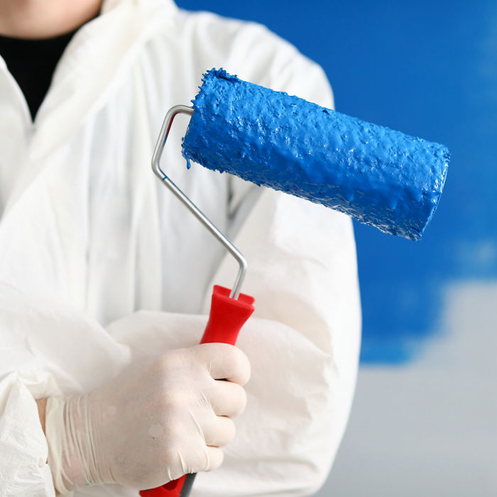
[[[21,106],[26,107],[26,159],[31,165],[18,175],[4,215],[50,163],[47,155],[67,141],[87,116],[104,107],[125,82],[143,45],[158,31],[173,26],[177,10],[172,0],[106,0],[101,15],[75,34],[55,69],[34,124],[26,102]],[[0,72],[5,73],[8,87],[19,93],[3,60]]]

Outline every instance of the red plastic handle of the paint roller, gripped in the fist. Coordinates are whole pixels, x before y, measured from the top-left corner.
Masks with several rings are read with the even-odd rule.
[[[234,300],[229,298],[230,293],[229,288],[214,285],[209,321],[200,340],[201,344],[216,342],[234,345],[241,327],[251,317],[254,298],[241,293],[238,300]],[[192,483],[191,481],[188,488],[185,486],[189,476],[195,475],[184,474],[181,478],[163,486],[141,490],[140,495],[141,497],[187,497]]]

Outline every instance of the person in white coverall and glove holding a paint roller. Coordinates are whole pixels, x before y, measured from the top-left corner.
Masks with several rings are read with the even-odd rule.
[[[178,117],[163,166],[256,298],[238,347],[196,345],[236,268],[149,164],[205,70],[332,107],[320,67],[172,0],[0,0],[0,35],[0,494],[136,496],[192,471],[194,496],[315,491],[356,381],[350,220],[187,170]]]

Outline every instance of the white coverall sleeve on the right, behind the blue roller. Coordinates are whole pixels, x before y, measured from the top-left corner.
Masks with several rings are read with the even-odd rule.
[[[263,26],[244,27],[234,53],[229,67],[242,79],[333,107],[322,69]],[[241,468],[254,462],[254,495],[308,495],[329,473],[356,384],[361,308],[352,223],[321,205],[231,181],[230,234],[249,263],[242,292],[256,298],[256,312],[238,342],[253,366],[249,407],[226,454],[244,459]],[[230,286],[235,273],[226,256],[212,283]],[[269,483],[268,474],[284,477]],[[207,487],[211,479],[214,491],[214,477],[200,475]]]

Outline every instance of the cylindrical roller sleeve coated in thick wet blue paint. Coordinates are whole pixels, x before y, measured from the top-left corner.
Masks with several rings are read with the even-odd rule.
[[[204,75],[182,153],[212,170],[324,204],[386,233],[420,239],[449,151],[298,97]]]

